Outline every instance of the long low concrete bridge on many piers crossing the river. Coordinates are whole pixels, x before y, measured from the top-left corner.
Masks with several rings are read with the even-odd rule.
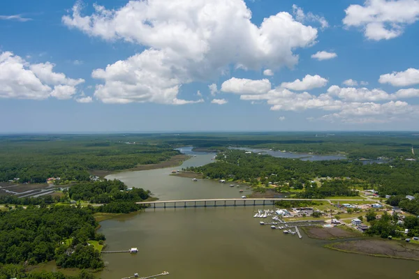
[[[180,204],[181,207],[197,207],[197,206],[247,206],[247,205],[268,205],[268,204],[275,204],[275,202],[279,201],[322,201],[322,202],[330,202],[330,199],[290,199],[290,198],[266,198],[266,199],[176,199],[176,200],[166,200],[166,201],[154,201],[154,202],[136,202],[136,204],[142,205],[149,205],[154,206],[156,205],[163,205],[163,208],[166,209],[168,205],[172,207],[177,207]],[[365,199],[336,199],[339,202],[360,202],[364,201]]]

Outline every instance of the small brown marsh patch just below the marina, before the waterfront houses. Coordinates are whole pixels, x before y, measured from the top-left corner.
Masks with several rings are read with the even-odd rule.
[[[311,239],[333,240],[360,237],[360,232],[355,232],[346,226],[339,227],[301,227],[302,231]]]

